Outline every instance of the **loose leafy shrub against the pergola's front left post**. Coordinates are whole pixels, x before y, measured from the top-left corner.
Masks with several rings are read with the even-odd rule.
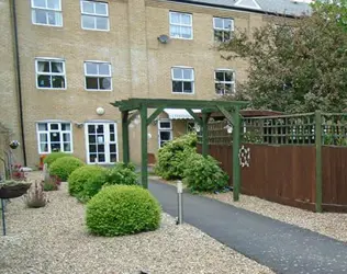
[[[117,162],[113,169],[110,169],[107,174],[108,184],[138,184],[133,163]]]

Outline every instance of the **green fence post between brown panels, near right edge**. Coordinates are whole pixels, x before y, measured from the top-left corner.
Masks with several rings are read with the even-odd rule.
[[[322,213],[322,113],[315,112],[315,210]]]

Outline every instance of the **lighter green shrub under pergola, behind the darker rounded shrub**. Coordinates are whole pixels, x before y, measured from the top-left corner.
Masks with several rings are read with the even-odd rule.
[[[188,134],[165,144],[158,151],[156,174],[166,180],[182,179],[186,160],[197,150],[197,135]]]

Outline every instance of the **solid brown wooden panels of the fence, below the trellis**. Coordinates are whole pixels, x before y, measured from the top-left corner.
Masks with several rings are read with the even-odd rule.
[[[243,144],[250,149],[242,168],[242,194],[315,210],[315,147]],[[232,146],[210,145],[233,185]],[[201,152],[201,146],[198,145]],[[347,212],[347,148],[323,147],[323,210]]]

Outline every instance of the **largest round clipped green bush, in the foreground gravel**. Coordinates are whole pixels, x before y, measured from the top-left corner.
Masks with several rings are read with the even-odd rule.
[[[157,199],[136,185],[103,187],[87,204],[87,227],[99,236],[122,236],[155,230],[160,225]]]

